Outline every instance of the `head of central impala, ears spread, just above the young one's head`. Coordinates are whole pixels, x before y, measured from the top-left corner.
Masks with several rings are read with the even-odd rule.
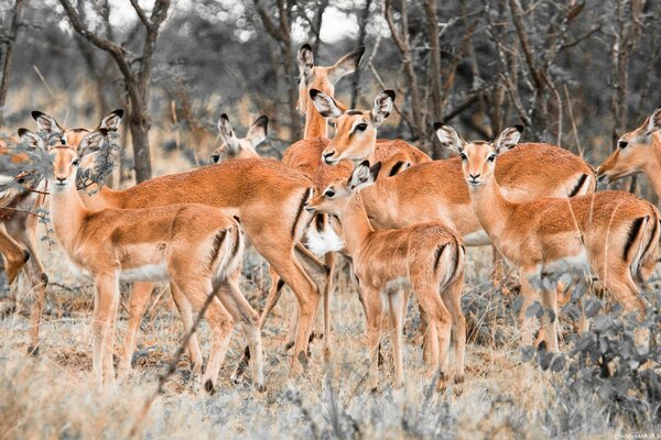
[[[393,90],[380,92],[371,110],[343,111],[335,99],[316,89],[310,90],[310,97],[321,116],[335,120],[335,136],[322,153],[328,165],[345,158],[356,163],[368,158],[375,151],[377,129],[394,106]]]

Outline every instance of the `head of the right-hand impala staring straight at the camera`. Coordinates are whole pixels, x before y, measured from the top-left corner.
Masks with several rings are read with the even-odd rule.
[[[523,125],[505,129],[495,142],[466,142],[452,127],[444,123],[435,123],[434,130],[443,146],[459,153],[464,178],[470,188],[484,185],[494,177],[496,157],[517,146]]]

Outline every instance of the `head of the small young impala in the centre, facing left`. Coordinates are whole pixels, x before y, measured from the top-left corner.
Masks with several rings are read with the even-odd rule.
[[[379,170],[381,170],[380,162],[371,167],[369,161],[362,162],[354,168],[348,180],[340,179],[328,185],[322,194],[317,194],[305,204],[305,209],[340,216],[354,194],[377,180]]]

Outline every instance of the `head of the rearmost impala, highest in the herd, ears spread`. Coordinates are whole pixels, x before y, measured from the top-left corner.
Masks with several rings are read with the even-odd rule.
[[[364,53],[365,47],[360,46],[339,58],[333,66],[322,67],[314,65],[312,46],[310,44],[302,45],[297,57],[299,72],[301,73],[301,79],[299,80],[299,110],[307,114],[308,109],[311,109],[311,89],[322,90],[328,96],[334,96],[335,84],[339,78],[358,68]]]

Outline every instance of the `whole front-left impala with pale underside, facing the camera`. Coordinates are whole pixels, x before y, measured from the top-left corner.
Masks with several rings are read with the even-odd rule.
[[[98,135],[106,135],[106,130],[86,135],[78,148],[88,151]],[[204,205],[89,210],[76,188],[82,165],[76,150],[63,140],[51,148],[50,155],[53,229],[71,262],[88,272],[96,285],[93,340],[94,374],[98,383],[115,380],[112,353],[120,280],[167,279],[197,310],[209,295],[218,292],[206,311],[213,339],[203,376],[205,388],[210,392],[215,387],[234,316],[243,319],[254,360],[254,384],[263,389],[258,316],[231,283],[240,272],[243,253],[239,223]],[[95,154],[84,157],[86,162],[94,158]]]

